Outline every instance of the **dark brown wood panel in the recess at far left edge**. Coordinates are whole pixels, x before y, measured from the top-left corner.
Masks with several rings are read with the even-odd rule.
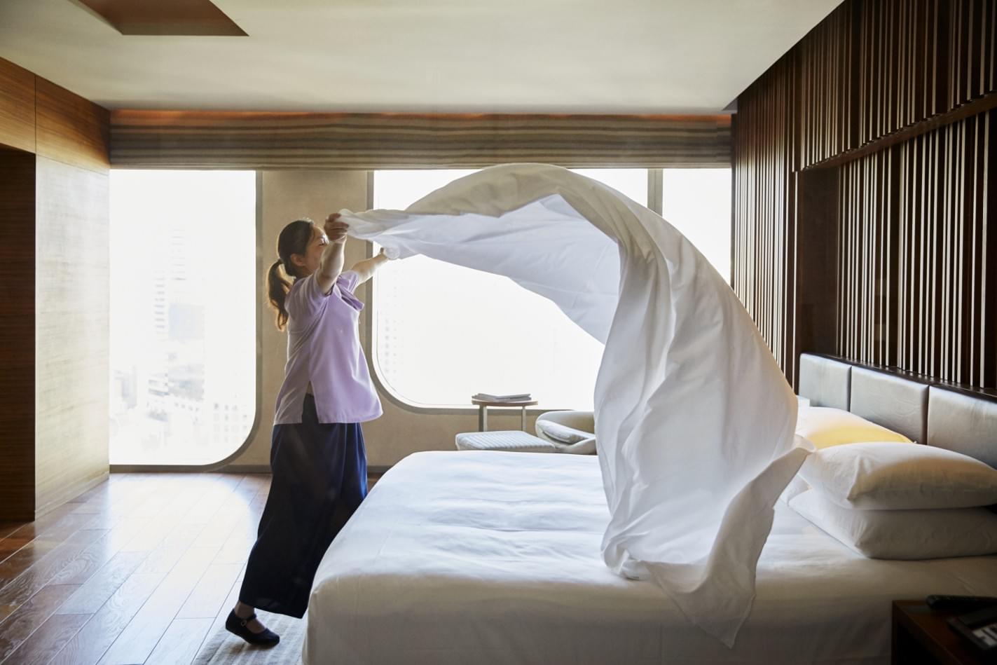
[[[35,156],[0,149],[0,521],[35,516]]]

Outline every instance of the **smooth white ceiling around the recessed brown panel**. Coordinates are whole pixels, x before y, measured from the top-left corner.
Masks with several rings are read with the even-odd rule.
[[[126,37],[0,0],[0,57],[108,109],[709,114],[838,2],[214,0],[248,37]]]

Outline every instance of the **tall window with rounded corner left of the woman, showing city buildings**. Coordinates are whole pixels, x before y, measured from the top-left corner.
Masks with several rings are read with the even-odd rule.
[[[209,464],[256,411],[252,171],[111,171],[111,463]]]

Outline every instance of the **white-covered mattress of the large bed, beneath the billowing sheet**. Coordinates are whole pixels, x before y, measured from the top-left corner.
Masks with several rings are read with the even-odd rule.
[[[651,581],[616,576],[594,457],[420,453],[388,472],[319,566],[319,663],[887,663],[890,601],[997,595],[997,556],[872,560],[779,503],[733,649]]]

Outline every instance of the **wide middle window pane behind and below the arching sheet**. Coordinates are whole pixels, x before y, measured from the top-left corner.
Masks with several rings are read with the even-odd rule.
[[[374,205],[404,209],[470,170],[377,171]],[[647,201],[647,170],[585,169]],[[602,345],[511,280],[413,256],[374,282],[375,359],[402,399],[467,406],[478,392],[529,392],[541,408],[591,409]]]

